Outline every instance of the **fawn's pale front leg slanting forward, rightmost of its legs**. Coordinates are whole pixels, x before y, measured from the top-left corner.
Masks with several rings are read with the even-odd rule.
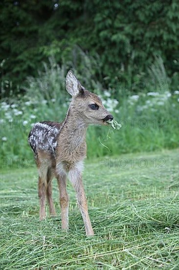
[[[81,172],[76,169],[70,170],[69,180],[72,183],[77,194],[78,205],[80,207],[80,211],[81,211],[83,221],[85,224],[86,235],[92,236],[94,235],[94,232],[93,232],[91,222],[90,222],[90,217],[88,214],[87,199],[85,196],[85,190],[83,187]]]

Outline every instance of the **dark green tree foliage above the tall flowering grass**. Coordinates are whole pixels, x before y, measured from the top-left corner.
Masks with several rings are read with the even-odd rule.
[[[170,78],[179,71],[179,0],[1,0],[0,21],[3,89],[22,90],[52,54],[80,73],[76,45],[99,55],[91,72],[105,86],[137,90],[156,54]]]

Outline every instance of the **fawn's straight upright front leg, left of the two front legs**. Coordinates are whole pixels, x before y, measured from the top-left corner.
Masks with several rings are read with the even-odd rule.
[[[67,176],[65,173],[59,174],[58,187],[60,191],[60,207],[61,207],[61,218],[62,218],[62,229],[68,229],[68,207],[69,207],[69,196],[67,194]]]

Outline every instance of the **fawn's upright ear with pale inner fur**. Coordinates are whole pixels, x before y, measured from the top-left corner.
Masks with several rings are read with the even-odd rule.
[[[66,89],[71,96],[75,96],[79,93],[83,93],[84,87],[77,80],[74,73],[69,70],[66,77]]]

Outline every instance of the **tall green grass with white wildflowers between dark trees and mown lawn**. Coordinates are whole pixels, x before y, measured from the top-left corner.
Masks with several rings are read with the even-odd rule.
[[[101,83],[94,81],[90,75],[90,58],[84,55],[82,58],[84,66],[88,66],[84,86],[89,90],[93,87],[105,107],[122,124],[119,131],[102,126],[89,127],[89,158],[178,146],[179,91],[170,92],[170,81],[161,58],[156,58],[151,67],[146,88],[131,95],[125,93],[120,85],[116,85],[115,91],[102,91]],[[33,155],[27,136],[33,123],[44,120],[60,122],[65,118],[70,102],[65,90],[66,73],[65,66],[60,67],[54,58],[50,58],[49,63],[44,64],[44,71],[39,72],[39,78],[28,78],[23,97],[1,101],[2,159],[31,159]],[[155,89],[153,81],[156,82]],[[116,96],[113,93],[118,94]]]

